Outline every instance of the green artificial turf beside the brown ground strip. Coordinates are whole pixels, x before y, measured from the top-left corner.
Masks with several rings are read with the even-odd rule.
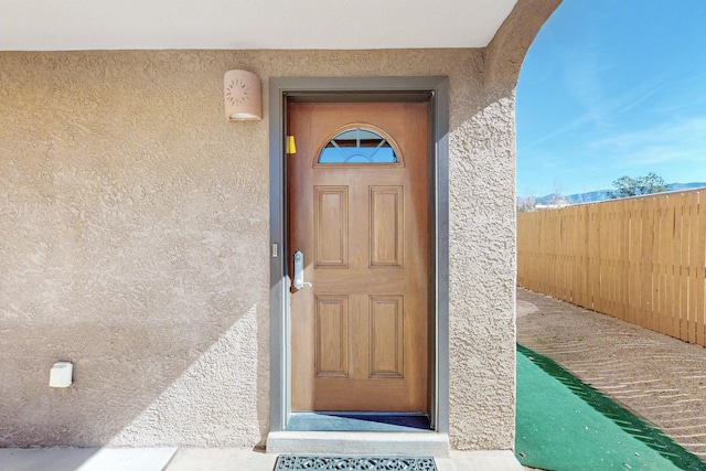
[[[515,456],[553,471],[706,470],[661,430],[522,345]]]

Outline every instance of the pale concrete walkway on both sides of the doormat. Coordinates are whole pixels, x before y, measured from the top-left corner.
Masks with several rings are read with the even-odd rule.
[[[239,448],[0,448],[2,471],[272,471],[276,454]],[[438,471],[522,471],[512,451],[451,451]]]

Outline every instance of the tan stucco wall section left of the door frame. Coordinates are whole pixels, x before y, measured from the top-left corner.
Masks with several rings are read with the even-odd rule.
[[[217,57],[0,53],[0,447],[264,442],[267,122]]]

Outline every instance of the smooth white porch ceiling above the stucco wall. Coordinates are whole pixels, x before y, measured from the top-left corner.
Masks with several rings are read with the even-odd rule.
[[[0,51],[484,47],[517,0],[6,0]]]

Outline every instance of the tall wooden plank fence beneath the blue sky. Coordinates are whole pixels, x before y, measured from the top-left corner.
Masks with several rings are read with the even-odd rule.
[[[517,283],[706,346],[706,189],[517,215]]]

